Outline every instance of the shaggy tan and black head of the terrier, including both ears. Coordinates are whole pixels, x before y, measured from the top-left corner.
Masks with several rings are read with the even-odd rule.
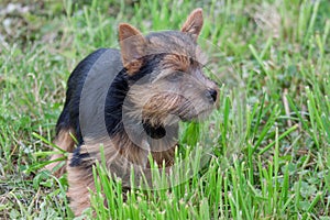
[[[201,9],[194,10],[180,31],[143,36],[130,24],[120,24],[121,57],[129,78],[129,111],[151,125],[165,125],[208,114],[218,101],[218,87],[205,76],[197,38]]]

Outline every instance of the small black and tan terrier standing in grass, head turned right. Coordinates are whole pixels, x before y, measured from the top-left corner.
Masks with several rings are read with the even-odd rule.
[[[88,189],[95,190],[91,170],[101,160],[100,145],[111,173],[120,174],[130,164],[147,168],[148,154],[158,166],[169,167],[178,121],[199,119],[215,107],[218,87],[204,75],[197,45],[202,23],[201,9],[190,13],[180,31],[143,36],[122,23],[120,51],[98,50],[72,73],[55,141],[70,153],[69,163],[55,175],[67,169],[68,196],[76,216],[90,206]],[[76,148],[73,136],[78,142]],[[59,157],[54,155],[52,161]]]

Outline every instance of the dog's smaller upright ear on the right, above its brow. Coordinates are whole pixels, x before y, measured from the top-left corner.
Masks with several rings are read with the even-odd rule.
[[[182,28],[182,32],[191,34],[194,40],[197,41],[201,28],[202,28],[202,9],[195,9],[189,14],[186,22],[184,23]]]

